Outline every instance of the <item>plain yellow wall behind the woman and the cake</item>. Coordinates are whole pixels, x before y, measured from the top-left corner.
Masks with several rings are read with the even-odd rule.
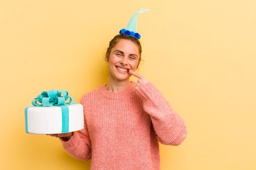
[[[0,0],[2,170],[89,169],[58,139],[25,133],[24,108],[41,91],[79,102],[105,83],[108,42],[140,8],[139,73],[188,129],[160,145],[161,169],[256,169],[255,0]]]

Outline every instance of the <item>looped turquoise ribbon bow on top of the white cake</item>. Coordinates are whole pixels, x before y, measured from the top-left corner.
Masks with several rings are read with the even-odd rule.
[[[66,102],[70,99],[69,102]],[[43,91],[37,98],[32,100],[32,104],[34,106],[59,106],[59,105],[70,105],[74,102],[74,98],[72,96],[68,96],[67,91],[61,90],[50,90]]]

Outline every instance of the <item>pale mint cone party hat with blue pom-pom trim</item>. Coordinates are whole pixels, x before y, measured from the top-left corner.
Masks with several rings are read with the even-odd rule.
[[[148,9],[140,9],[139,11],[135,12],[135,14],[132,15],[132,18],[128,22],[125,29],[121,29],[119,31],[120,34],[126,34],[131,37],[135,37],[137,39],[140,39],[140,34],[137,33],[137,18],[139,13],[149,12]]]

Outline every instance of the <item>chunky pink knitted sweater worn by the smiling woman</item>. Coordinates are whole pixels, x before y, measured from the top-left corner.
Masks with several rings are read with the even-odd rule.
[[[105,85],[83,95],[85,128],[63,148],[77,159],[91,159],[91,170],[159,170],[158,141],[179,145],[186,126],[155,86],[136,83],[112,93]]]

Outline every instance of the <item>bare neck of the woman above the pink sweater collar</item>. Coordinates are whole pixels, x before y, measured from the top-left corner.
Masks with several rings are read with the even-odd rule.
[[[106,89],[110,92],[121,92],[125,91],[130,85],[131,82],[129,79],[124,81],[109,79],[108,84],[106,84]]]

